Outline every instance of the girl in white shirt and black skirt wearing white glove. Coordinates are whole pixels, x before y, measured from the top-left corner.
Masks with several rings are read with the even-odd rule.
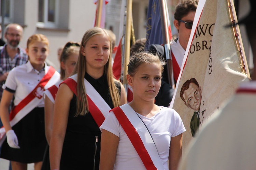
[[[49,54],[46,36],[30,36],[26,52],[29,61],[13,68],[3,86],[0,116],[7,138],[1,158],[11,160],[12,169],[26,170],[27,164],[34,163],[34,169],[40,170],[46,146],[43,91],[59,81],[60,75],[45,62]],[[13,96],[14,108],[9,116]]]

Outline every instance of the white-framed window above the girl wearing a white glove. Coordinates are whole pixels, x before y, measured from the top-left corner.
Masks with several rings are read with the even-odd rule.
[[[59,0],[38,1],[38,25],[42,27],[57,27]]]

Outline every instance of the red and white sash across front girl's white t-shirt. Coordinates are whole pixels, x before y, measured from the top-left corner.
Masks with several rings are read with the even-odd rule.
[[[112,109],[147,170],[164,169],[156,145],[142,120],[128,105]]]

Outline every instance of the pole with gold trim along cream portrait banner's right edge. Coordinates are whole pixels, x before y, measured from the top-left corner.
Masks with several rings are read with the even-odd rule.
[[[247,60],[245,57],[245,53],[243,50],[243,42],[240,40],[240,29],[239,26],[236,24],[237,21],[237,15],[236,15],[236,11],[233,10],[233,1],[229,0],[229,10],[230,10],[230,15],[231,15],[231,22],[232,22],[232,26],[234,29],[234,33],[235,33],[235,38],[237,41],[237,45],[238,45],[238,50],[239,50],[239,57],[241,58],[241,63],[242,63],[242,69],[244,71],[245,74],[248,75],[248,78],[251,79],[250,73],[249,73],[249,69],[247,66]]]

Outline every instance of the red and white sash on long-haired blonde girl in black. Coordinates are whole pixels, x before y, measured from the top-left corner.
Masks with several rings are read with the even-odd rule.
[[[69,86],[69,88],[73,91],[73,93],[77,95],[77,74],[71,76],[62,83],[66,83]],[[111,110],[111,108],[85,78],[84,86],[88,101],[88,110],[93,116],[97,125],[100,127],[104,122],[105,118],[107,117],[107,115],[109,114],[109,110]]]

